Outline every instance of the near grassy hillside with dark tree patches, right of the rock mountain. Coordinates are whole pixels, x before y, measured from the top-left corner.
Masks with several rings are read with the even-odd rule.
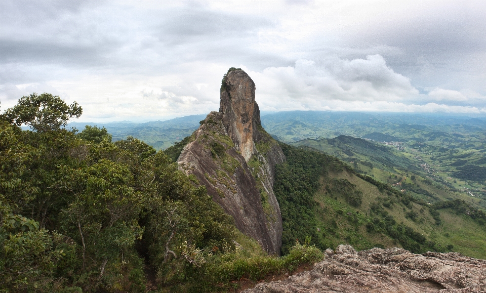
[[[299,177],[299,170],[307,173],[306,178],[312,178],[309,174],[321,174],[317,176],[315,191],[307,188],[307,192],[299,192],[305,190],[305,181],[291,183],[294,181],[282,179],[278,171],[286,165],[277,168],[275,190],[284,219],[282,247],[285,248],[286,239],[290,245],[295,239],[312,236],[312,243],[323,249],[349,243],[359,250],[401,246],[416,253],[454,250],[476,258],[486,257],[485,222],[476,222],[467,213],[451,207],[437,208],[436,204],[421,198],[422,193],[439,192],[438,189],[417,190],[410,183],[412,189],[422,193],[402,192],[374,177],[355,173],[351,166],[310,148],[282,146],[282,149],[288,158],[286,164],[294,165],[289,168],[293,170],[292,176]],[[295,161],[294,157],[297,157]],[[309,169],[309,161],[322,163]],[[326,167],[321,169],[322,165]],[[287,198],[289,193],[293,194],[291,199],[285,195],[279,197],[280,184],[287,190]],[[453,196],[440,195],[446,197],[446,194]],[[436,202],[441,200],[451,202],[440,198]],[[474,208],[474,203],[466,202],[469,208]],[[288,230],[286,222],[291,224]]]

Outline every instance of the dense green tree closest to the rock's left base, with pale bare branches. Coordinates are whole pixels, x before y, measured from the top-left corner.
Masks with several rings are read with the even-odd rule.
[[[204,249],[233,246],[233,219],[212,201],[206,188],[194,187],[164,152],[143,165],[140,180],[148,183],[144,192],[150,194],[144,204],[144,245],[161,281],[185,282],[204,263]]]

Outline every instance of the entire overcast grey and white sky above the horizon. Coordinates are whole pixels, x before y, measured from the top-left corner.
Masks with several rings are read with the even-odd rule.
[[[262,111],[486,116],[486,2],[0,1],[0,110],[32,92],[80,121],[219,109],[229,67]]]

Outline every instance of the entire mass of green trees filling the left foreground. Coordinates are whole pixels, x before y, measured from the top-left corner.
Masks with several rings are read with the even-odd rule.
[[[112,143],[97,127],[61,128],[78,114],[32,94],[0,119],[1,290],[145,291],[135,247],[166,285],[188,281],[171,268],[231,247],[232,219],[165,153],[133,137]]]

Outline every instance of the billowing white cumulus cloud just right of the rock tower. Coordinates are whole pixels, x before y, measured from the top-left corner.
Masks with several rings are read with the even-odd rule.
[[[410,80],[394,72],[380,55],[354,60],[332,57],[319,63],[300,59],[293,67],[248,73],[257,85],[257,99],[271,108],[282,102],[302,108],[329,100],[403,101],[419,94]]]

